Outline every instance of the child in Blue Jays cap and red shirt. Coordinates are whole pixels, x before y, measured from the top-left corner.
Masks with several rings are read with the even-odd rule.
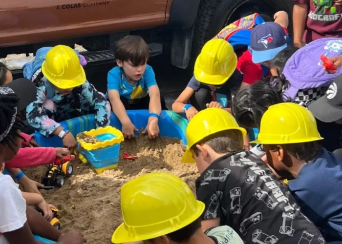
[[[236,20],[234,23],[224,27],[214,38],[223,39],[232,44],[238,55],[236,68],[243,74],[241,87],[253,84],[263,77],[269,75],[269,65],[262,63],[255,63],[252,61],[253,49],[260,51],[269,51],[272,53],[271,58],[267,57],[265,52],[255,53],[254,58],[268,61],[272,59],[283,46],[290,42],[288,38],[288,15],[284,11],[279,11],[274,15],[273,23],[265,23],[258,15],[253,14]],[[260,25],[256,28],[256,26]],[[267,34],[265,34],[265,32]],[[264,40],[264,44],[258,42],[267,35],[272,35],[272,42],[270,45]],[[286,39],[284,39],[284,36]],[[252,38],[253,37],[253,38]],[[271,39],[269,39],[271,40]],[[268,48],[265,48],[265,44]],[[248,47],[248,48],[247,48]],[[261,49],[260,49],[261,48]],[[268,50],[269,49],[269,50]],[[261,55],[261,56],[260,56]],[[270,55],[270,54],[269,54]],[[268,55],[268,56],[269,56]],[[262,58],[265,57],[266,59]]]

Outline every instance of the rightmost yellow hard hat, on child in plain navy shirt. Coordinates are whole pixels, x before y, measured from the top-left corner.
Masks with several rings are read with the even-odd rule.
[[[296,103],[270,106],[261,119],[257,140],[250,143],[290,144],[322,140],[315,117]]]

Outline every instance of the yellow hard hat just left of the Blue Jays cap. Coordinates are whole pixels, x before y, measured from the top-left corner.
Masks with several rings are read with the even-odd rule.
[[[193,75],[201,83],[222,85],[232,76],[236,64],[232,45],[222,39],[212,39],[205,43],[198,55]]]

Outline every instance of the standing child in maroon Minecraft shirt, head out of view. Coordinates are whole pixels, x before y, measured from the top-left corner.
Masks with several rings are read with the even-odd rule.
[[[320,38],[342,37],[341,0],[295,0],[293,41],[302,47]]]

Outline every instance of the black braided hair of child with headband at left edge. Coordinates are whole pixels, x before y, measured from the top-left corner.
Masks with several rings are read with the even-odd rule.
[[[12,117],[15,113],[15,109],[18,106],[20,98],[14,94],[0,94],[0,118],[1,118],[1,123],[0,123],[0,134],[4,133],[7,128],[10,126],[12,122]],[[17,118],[8,132],[7,136],[2,139],[0,144],[5,145],[9,147],[14,153],[16,153],[12,147],[12,145],[17,145],[15,140],[16,138],[21,138],[23,137],[18,134],[18,130],[22,130],[24,128],[24,123],[19,115],[17,115]]]

